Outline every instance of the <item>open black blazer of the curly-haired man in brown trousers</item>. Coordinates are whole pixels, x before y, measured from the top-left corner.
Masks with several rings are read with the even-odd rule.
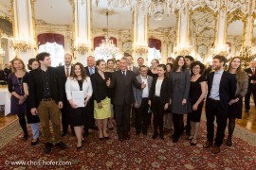
[[[41,68],[38,68],[30,71],[28,75],[28,92],[31,108],[37,108],[44,96],[44,86],[41,72]],[[52,98],[56,101],[56,103],[63,101],[64,89],[62,79],[57,74],[57,69],[54,67],[48,67],[48,72]]]

